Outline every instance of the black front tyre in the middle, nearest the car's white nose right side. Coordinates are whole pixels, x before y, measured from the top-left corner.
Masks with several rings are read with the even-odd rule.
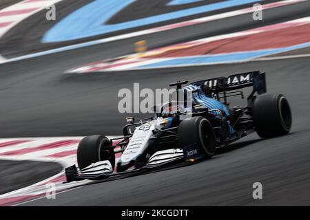
[[[216,135],[209,120],[198,116],[183,120],[178,126],[178,145],[180,148],[198,144],[201,153],[210,158],[216,151]]]

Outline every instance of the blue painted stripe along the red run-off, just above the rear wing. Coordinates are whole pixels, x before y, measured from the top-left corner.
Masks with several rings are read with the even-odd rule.
[[[158,63],[152,63],[149,65],[143,65],[140,67],[135,67],[135,69],[144,69],[144,68],[158,68],[158,67],[178,67],[184,65],[207,65],[210,63],[231,63],[231,62],[240,62],[247,61],[252,58],[258,58],[262,56],[267,56],[271,54],[278,54],[282,52],[288,52],[290,50],[298,50],[304,47],[309,47],[309,43],[302,43],[300,45],[293,45],[291,47],[283,47],[277,49],[268,49],[268,50],[258,50],[254,52],[236,52],[229,54],[215,54],[215,55],[203,55],[203,56],[187,56],[180,58],[172,58],[167,61],[161,61]]]

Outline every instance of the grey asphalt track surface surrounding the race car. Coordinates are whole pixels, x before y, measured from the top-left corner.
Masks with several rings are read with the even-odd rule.
[[[309,16],[309,2],[266,12],[266,23]],[[286,13],[286,14],[285,14]],[[232,23],[234,22],[234,23]],[[266,25],[264,23],[264,25]],[[127,116],[116,113],[121,88],[164,88],[176,80],[200,80],[260,69],[267,72],[270,94],[287,96],[293,111],[291,133],[262,140],[256,134],[221,149],[207,161],[156,173],[107,181],[37,199],[25,206],[262,206],[310,205],[310,58],[183,67],[101,74],[63,74],[103,58],[133,52],[147,39],[151,47],[197,36],[244,30],[257,25],[251,16],[193,25],[69,52],[0,65],[0,136],[118,135]],[[202,31],[203,30],[203,31]],[[184,30],[183,30],[184,31]],[[190,33],[190,34],[189,34]],[[189,36],[191,35],[192,36]],[[239,102],[231,103],[233,105]],[[263,199],[252,185],[262,183]]]

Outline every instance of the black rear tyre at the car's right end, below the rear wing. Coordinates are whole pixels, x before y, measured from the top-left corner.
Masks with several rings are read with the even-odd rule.
[[[254,100],[253,120],[260,137],[276,137],[289,133],[292,116],[287,98],[281,94],[258,96]]]

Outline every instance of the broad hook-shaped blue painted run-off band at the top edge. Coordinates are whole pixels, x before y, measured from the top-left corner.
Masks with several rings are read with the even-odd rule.
[[[198,0],[196,0],[198,1]],[[194,8],[188,8],[185,10],[178,10],[176,12],[169,12],[166,14],[159,14],[152,17],[146,17],[143,19],[136,19],[134,21],[126,21],[123,23],[117,23],[112,25],[105,24],[114,14],[120,12],[127,5],[130,5],[134,0],[96,0],[89,3],[79,10],[72,12],[65,17],[59,23],[56,23],[52,29],[50,29],[43,36],[43,43],[70,41],[76,39],[83,39],[90,36],[96,36],[99,34],[107,34],[110,32],[116,32],[120,30],[126,30],[128,28],[136,28],[143,25],[149,25],[152,23],[169,21],[171,19],[179,19],[182,17],[191,16],[194,14],[200,14],[204,12],[211,12],[224,8],[230,8],[238,5],[244,5],[247,3],[254,3],[258,0],[229,0],[221,1],[218,3],[210,3],[209,5],[201,5]],[[176,4],[185,3],[181,0],[174,0],[170,3]],[[192,0],[194,2],[194,0]]]

